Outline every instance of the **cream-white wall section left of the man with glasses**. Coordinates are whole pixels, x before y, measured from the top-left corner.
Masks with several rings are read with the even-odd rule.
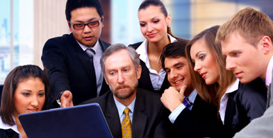
[[[34,60],[42,67],[42,48],[51,37],[69,33],[65,18],[67,0],[34,0]]]

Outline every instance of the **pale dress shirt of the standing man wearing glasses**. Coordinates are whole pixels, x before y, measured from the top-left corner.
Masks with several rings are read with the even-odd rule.
[[[83,49],[83,51],[85,51],[86,49],[89,48],[88,46],[85,46],[79,42],[78,42],[78,44],[81,46],[81,49]],[[93,56],[93,63],[94,63],[94,71],[96,74],[96,82],[97,82],[97,96],[99,96],[99,92],[101,92],[102,82],[104,80],[104,76],[102,75],[102,72],[101,72],[101,64],[99,63],[99,60],[101,60],[101,55],[104,52],[101,49],[101,46],[99,44],[99,40],[96,42],[96,44],[94,44],[93,47],[91,47],[91,49],[93,49],[95,52],[95,54]]]

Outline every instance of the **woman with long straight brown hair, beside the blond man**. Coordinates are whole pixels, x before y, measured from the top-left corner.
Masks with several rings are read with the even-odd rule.
[[[241,84],[232,71],[226,70],[221,45],[215,43],[218,28],[213,26],[193,37],[186,55],[197,93],[219,111],[224,125],[221,137],[233,137],[252,119],[263,115],[267,89],[260,78]]]

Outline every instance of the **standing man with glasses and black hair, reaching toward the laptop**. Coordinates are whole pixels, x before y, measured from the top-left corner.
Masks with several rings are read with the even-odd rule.
[[[109,89],[99,66],[110,45],[99,39],[104,27],[101,3],[68,0],[65,15],[72,33],[48,40],[42,51],[42,62],[49,69],[49,108],[78,105]]]

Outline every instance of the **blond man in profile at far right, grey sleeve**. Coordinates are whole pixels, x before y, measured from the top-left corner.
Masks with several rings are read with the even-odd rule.
[[[235,137],[272,137],[273,135],[273,22],[263,12],[245,8],[220,26],[216,41],[226,55],[226,69],[232,70],[241,83],[262,78],[267,85],[267,110]],[[254,99],[255,100],[255,99]]]

